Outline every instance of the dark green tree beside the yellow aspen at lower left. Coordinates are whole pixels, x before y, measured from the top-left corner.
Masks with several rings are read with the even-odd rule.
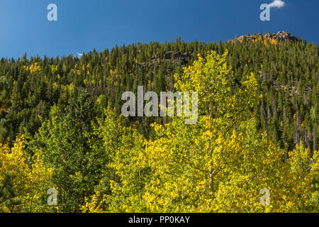
[[[65,109],[52,107],[50,118],[43,120],[29,143],[30,150],[40,150],[43,160],[55,168],[52,182],[58,187],[60,211],[78,212],[99,175],[89,143],[94,108],[87,92],[80,92]]]

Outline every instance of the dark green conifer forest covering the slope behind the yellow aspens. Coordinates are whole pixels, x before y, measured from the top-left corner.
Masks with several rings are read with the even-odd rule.
[[[288,145],[291,150],[302,140],[310,150],[318,150],[318,45],[301,40],[219,44],[177,40],[116,46],[111,51],[89,52],[80,59],[2,59],[0,101],[8,103],[4,96],[9,96],[13,103],[10,109],[6,108],[9,114],[6,122],[0,124],[1,134],[10,141],[26,131],[35,134],[40,127],[39,115],[48,118],[50,107],[67,105],[82,89],[94,101],[103,96],[103,104],[116,108],[120,114],[123,92],[135,92],[138,85],[155,92],[173,92],[174,74],[197,60],[198,53],[216,51],[221,55],[224,50],[229,52],[224,58],[232,69],[226,77],[231,91],[239,89],[240,81],[250,72],[257,79],[258,92],[262,94],[260,103],[254,106],[259,133],[267,131],[281,148]],[[2,86],[4,81],[6,85]],[[103,108],[98,108],[100,116]],[[147,136],[152,131],[150,124],[163,119],[130,118],[131,123],[138,121],[140,133]]]

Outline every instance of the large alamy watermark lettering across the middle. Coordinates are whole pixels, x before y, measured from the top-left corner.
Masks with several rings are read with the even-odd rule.
[[[136,96],[133,92],[124,92],[122,100],[122,115],[128,116],[174,116],[174,106],[177,107],[176,116],[184,116],[186,124],[194,124],[198,119],[198,92],[160,92],[160,101],[156,92],[146,92],[143,86],[138,86],[138,108],[136,113]],[[174,99],[176,102],[174,105]],[[190,101],[190,99],[192,99]],[[144,101],[148,101],[144,106]],[[191,102],[191,104],[190,104]],[[159,105],[160,104],[160,105]],[[168,106],[168,111],[167,111]],[[160,107],[160,110],[159,110]]]

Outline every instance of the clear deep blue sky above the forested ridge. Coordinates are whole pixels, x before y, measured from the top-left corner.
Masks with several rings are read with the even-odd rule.
[[[235,35],[288,31],[319,43],[319,1],[282,0],[271,20],[260,21],[261,4],[274,0],[1,0],[0,58],[77,55],[116,44],[151,40],[203,42]],[[278,0],[277,0],[278,1]],[[47,5],[57,21],[47,21]]]

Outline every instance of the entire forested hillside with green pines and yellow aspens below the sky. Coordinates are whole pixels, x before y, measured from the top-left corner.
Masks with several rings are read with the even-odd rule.
[[[318,212],[318,50],[268,33],[1,59],[1,211]],[[121,116],[138,86],[198,92],[198,123]]]

